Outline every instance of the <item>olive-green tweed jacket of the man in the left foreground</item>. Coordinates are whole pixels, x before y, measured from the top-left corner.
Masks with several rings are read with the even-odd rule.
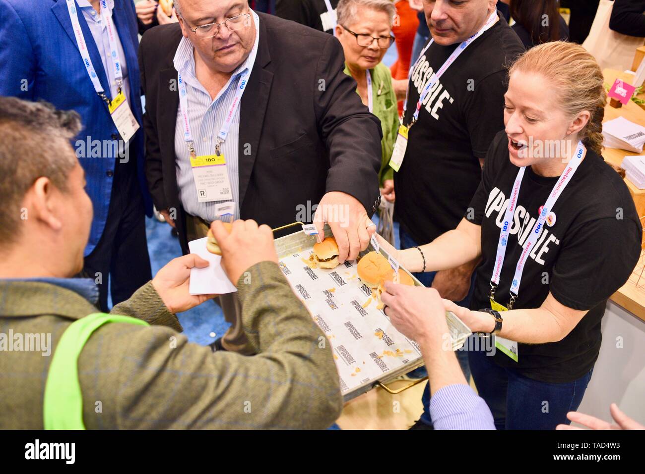
[[[152,326],[108,323],[87,341],[78,363],[86,428],[330,426],[342,397],[323,332],[275,263],[258,263],[248,269],[248,284],[244,278],[237,288],[244,330],[258,352],[251,357],[189,343],[152,283],[115,306],[113,314]],[[0,333],[51,334],[53,346],[48,356],[0,352],[0,429],[43,428],[57,341],[73,321],[94,312],[72,290],[0,280]]]

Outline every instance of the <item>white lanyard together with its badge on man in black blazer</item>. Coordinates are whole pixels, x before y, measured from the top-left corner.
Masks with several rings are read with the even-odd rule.
[[[255,23],[259,21],[259,17],[253,10],[250,10],[255,19]],[[232,200],[233,194],[231,191],[230,180],[228,178],[228,169],[226,168],[226,158],[222,153],[221,146],[226,141],[228,131],[233,123],[233,118],[237,109],[239,108],[242,100],[242,95],[248,85],[248,78],[251,75],[253,64],[255,63],[255,56],[257,55],[257,48],[259,42],[259,28],[255,30],[255,43],[248,57],[249,66],[244,69],[237,81],[235,87],[235,96],[228,107],[228,112],[224,117],[224,122],[221,129],[217,133],[215,142],[215,155],[201,155],[197,156],[195,151],[194,138],[190,129],[190,120],[188,119],[188,90],[186,89],[186,82],[183,81],[181,73],[177,71],[177,84],[179,88],[179,109],[181,110],[181,118],[184,128],[184,141],[188,144],[188,151],[190,151],[190,165],[193,170],[195,179],[195,187],[197,189],[198,202],[212,202],[221,200]]]

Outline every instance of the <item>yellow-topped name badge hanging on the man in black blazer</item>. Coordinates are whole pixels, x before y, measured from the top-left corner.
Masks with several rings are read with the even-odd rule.
[[[224,155],[190,156],[198,202],[232,200]]]

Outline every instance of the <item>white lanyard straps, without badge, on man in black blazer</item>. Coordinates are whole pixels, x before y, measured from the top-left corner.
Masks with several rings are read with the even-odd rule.
[[[259,17],[257,16],[257,14],[255,14],[255,12],[253,12],[253,10],[251,10],[251,12],[257,23],[257,21],[259,21]],[[253,49],[251,50],[251,53],[248,57],[250,65],[242,71],[240,78],[237,81],[237,87],[235,88],[235,97],[233,97],[233,100],[228,108],[228,113],[226,113],[226,117],[224,117],[222,128],[217,133],[215,153],[218,156],[220,153],[220,147],[224,143],[224,141],[226,141],[226,136],[228,135],[228,131],[231,128],[231,124],[233,123],[233,117],[235,117],[235,112],[239,107],[239,104],[242,100],[242,95],[244,94],[246,86],[248,85],[248,77],[251,74],[253,63],[255,63],[255,56],[257,55],[259,35],[259,28],[255,28],[255,44],[253,44]],[[184,123],[184,141],[188,144],[188,150],[190,151],[190,153],[195,153],[195,148],[193,147],[194,139],[190,130],[190,122],[188,120],[188,91],[186,90],[186,83],[183,81],[183,78],[181,77],[181,73],[179,71],[177,71],[177,84],[179,86],[179,108],[181,108],[181,118]]]

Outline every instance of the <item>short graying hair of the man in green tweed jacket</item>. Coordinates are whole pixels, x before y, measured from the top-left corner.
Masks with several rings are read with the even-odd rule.
[[[0,97],[0,244],[17,240],[21,204],[41,176],[60,191],[77,159],[70,141],[81,130],[75,111],[57,111],[47,102]]]

